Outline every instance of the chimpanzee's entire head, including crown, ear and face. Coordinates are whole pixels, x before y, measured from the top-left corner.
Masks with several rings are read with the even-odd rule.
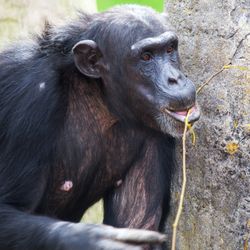
[[[176,136],[199,118],[194,84],[181,72],[178,38],[151,8],[124,5],[97,14],[73,48],[76,67],[101,78],[110,110]],[[87,37],[87,39],[86,39]]]

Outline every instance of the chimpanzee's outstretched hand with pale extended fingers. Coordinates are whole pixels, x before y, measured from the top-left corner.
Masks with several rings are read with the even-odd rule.
[[[166,240],[166,236],[157,232],[106,225],[69,223],[60,231],[58,250],[141,250],[139,245],[161,244]]]

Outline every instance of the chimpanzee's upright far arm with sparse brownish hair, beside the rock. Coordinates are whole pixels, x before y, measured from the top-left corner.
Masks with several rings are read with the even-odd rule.
[[[170,201],[174,139],[153,138],[118,187],[104,201],[104,223],[160,230]]]

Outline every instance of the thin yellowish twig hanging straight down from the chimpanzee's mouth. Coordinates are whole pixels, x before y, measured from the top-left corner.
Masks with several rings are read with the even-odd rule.
[[[179,201],[179,206],[177,210],[177,214],[174,220],[173,224],[173,236],[172,236],[172,247],[171,250],[175,250],[176,247],[176,234],[177,234],[177,226],[181,217],[182,213],[182,208],[183,208],[183,201],[184,201],[184,195],[185,195],[185,190],[186,190],[186,182],[187,182],[187,177],[186,177],[186,134],[187,134],[187,129],[188,129],[188,117],[190,114],[190,110],[187,113],[187,116],[185,118],[185,127],[184,127],[184,132],[182,136],[182,186],[181,186],[181,196],[180,196],[180,201]]]

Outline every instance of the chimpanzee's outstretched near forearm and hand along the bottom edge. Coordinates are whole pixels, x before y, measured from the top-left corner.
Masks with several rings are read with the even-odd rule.
[[[156,232],[56,221],[0,205],[3,250],[140,250],[137,244],[161,241]]]

